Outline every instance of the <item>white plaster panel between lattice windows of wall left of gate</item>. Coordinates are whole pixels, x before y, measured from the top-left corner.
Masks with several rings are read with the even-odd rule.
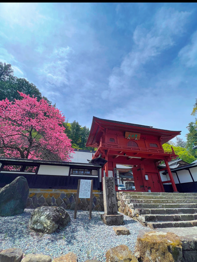
[[[69,166],[40,165],[38,175],[68,176]]]

